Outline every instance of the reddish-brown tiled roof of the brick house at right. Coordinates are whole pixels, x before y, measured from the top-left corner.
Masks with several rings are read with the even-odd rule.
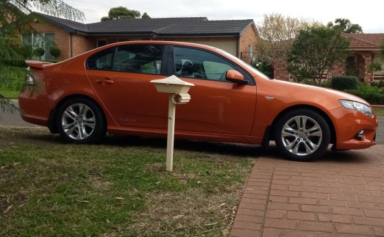
[[[384,33],[345,34],[351,39],[350,48],[379,49]]]

